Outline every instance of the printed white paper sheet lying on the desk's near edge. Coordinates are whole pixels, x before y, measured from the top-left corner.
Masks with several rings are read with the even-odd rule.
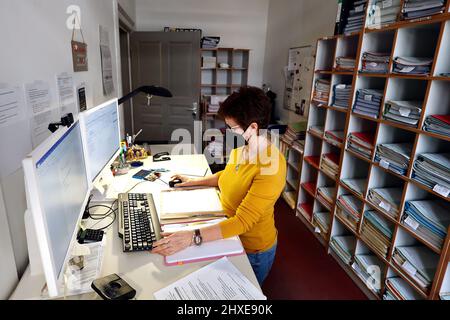
[[[267,300],[223,258],[155,293],[157,300]]]

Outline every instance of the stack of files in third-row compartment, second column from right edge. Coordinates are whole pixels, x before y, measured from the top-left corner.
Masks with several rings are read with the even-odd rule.
[[[404,176],[408,171],[412,148],[412,143],[380,144],[377,146],[375,161],[381,167]]]

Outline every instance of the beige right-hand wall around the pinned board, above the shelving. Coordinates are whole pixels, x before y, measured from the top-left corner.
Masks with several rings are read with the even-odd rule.
[[[278,94],[277,114],[285,122],[298,117],[283,109],[284,74],[288,50],[291,47],[316,45],[318,38],[332,35],[337,13],[337,1],[331,0],[270,0],[267,22],[264,83]]]

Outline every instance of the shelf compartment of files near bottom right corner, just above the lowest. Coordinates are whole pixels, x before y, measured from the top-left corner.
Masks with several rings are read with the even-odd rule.
[[[409,279],[419,292],[428,296],[434,281],[439,256],[401,228],[397,230],[394,247],[392,265],[405,278]],[[404,258],[403,251],[406,251],[407,254],[417,259],[419,263],[425,266],[426,270],[418,270],[418,265],[414,261],[409,261]]]

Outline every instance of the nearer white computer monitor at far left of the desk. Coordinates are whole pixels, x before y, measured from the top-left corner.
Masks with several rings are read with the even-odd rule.
[[[48,138],[23,169],[48,293],[56,297],[90,193],[79,123]]]

